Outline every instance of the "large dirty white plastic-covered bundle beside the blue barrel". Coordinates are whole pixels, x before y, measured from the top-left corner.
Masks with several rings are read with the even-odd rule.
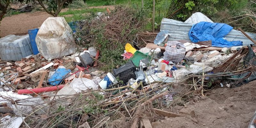
[[[72,30],[63,17],[49,17],[36,35],[38,51],[46,59],[55,59],[76,52]]]

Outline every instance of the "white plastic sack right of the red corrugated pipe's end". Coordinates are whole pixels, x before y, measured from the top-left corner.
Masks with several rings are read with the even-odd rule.
[[[98,89],[98,86],[87,78],[74,78],[69,84],[77,93],[87,89]]]

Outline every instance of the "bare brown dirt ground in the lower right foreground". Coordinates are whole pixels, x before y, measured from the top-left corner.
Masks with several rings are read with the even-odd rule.
[[[246,128],[256,110],[255,85],[252,81],[238,88],[214,89],[185,107],[195,111],[194,118],[165,118],[151,124],[153,128]]]

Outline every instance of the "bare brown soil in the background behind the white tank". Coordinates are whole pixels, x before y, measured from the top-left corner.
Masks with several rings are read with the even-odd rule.
[[[89,8],[109,8],[110,10],[113,10],[114,6],[92,6]],[[65,8],[62,9],[61,12],[67,10],[68,8]],[[28,34],[29,29],[39,28],[48,17],[52,17],[52,15],[43,11],[21,13],[10,17],[4,17],[0,24],[0,36],[4,37],[10,34],[19,36],[26,35]]]

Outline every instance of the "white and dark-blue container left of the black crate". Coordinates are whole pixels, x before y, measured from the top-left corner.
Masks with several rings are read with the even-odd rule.
[[[111,84],[117,84],[116,78],[109,72],[100,82],[99,85],[102,89],[108,88]]]

